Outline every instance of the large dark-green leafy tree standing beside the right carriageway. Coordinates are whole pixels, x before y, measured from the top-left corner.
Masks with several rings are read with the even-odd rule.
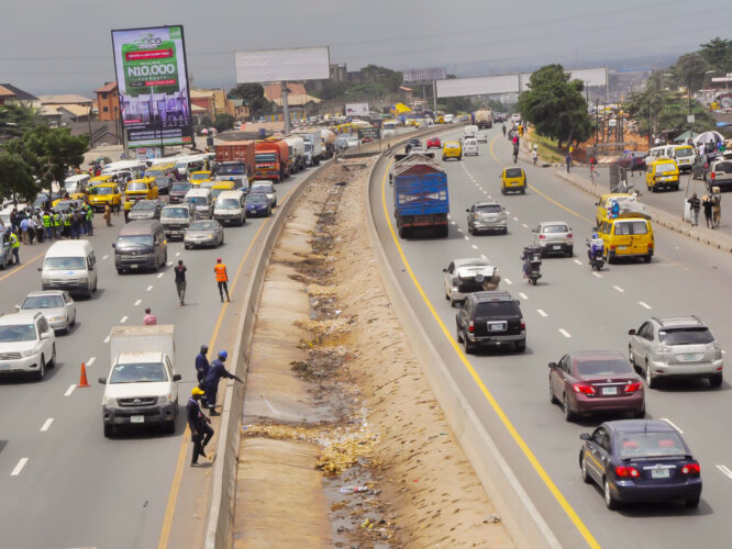
[[[519,96],[519,112],[540,135],[564,143],[587,139],[592,124],[581,80],[569,80],[562,65],[546,65],[531,75],[529,90]]]

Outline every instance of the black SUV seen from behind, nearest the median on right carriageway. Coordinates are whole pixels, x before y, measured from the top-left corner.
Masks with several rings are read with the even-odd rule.
[[[517,351],[526,348],[526,324],[519,302],[503,291],[467,295],[455,316],[457,341],[466,354],[483,345],[512,344]]]

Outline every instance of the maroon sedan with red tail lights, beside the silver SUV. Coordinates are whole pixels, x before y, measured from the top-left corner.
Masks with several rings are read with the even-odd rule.
[[[643,382],[622,354],[570,352],[548,367],[550,402],[562,403],[567,422],[603,412],[645,416]]]

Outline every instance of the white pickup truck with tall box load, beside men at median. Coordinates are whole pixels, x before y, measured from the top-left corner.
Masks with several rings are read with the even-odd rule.
[[[104,388],[104,436],[120,426],[162,426],[175,433],[178,415],[173,325],[114,326],[110,334],[109,376]]]

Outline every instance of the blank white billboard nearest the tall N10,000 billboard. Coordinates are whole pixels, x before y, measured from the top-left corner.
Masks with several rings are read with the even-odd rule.
[[[330,78],[328,47],[235,52],[236,83],[284,82]]]

